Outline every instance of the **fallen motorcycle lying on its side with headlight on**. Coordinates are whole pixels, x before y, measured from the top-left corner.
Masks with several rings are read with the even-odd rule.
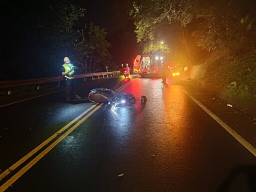
[[[107,88],[95,88],[90,90],[88,98],[91,102],[104,103],[107,107],[118,107],[131,105],[136,102],[136,98],[132,94],[124,94],[120,91],[113,91]]]

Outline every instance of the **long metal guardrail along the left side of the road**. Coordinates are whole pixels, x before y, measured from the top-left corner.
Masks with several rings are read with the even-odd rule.
[[[92,80],[94,77],[97,77],[99,79],[100,76],[107,76],[110,75],[117,75],[120,71],[112,71],[112,72],[97,72],[97,73],[87,73],[87,74],[76,74],[74,75],[74,78],[87,78],[92,77]],[[30,84],[40,84],[45,82],[54,82],[54,81],[61,81],[64,80],[63,76],[56,76],[56,77],[47,77],[47,78],[35,78],[35,79],[24,79],[24,80],[9,80],[9,81],[0,81],[0,88],[10,88],[15,86],[24,86],[24,85],[30,85]]]

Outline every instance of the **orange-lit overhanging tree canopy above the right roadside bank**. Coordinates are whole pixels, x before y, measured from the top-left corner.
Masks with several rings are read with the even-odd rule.
[[[176,54],[176,59],[186,65],[196,64],[202,54],[194,52],[202,49],[214,52],[213,58],[254,51],[253,0],[131,0],[129,5],[137,41],[168,39],[174,52],[183,48],[186,58]]]

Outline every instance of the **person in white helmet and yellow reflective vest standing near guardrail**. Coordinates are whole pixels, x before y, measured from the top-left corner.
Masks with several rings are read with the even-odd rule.
[[[76,94],[75,90],[75,81],[74,81],[74,70],[77,69],[78,67],[74,66],[71,62],[70,59],[66,56],[64,57],[64,64],[61,67],[61,73],[62,76],[65,79],[66,83],[66,101],[70,101],[71,97],[71,89],[73,90],[74,93],[74,98],[81,98],[79,95]]]

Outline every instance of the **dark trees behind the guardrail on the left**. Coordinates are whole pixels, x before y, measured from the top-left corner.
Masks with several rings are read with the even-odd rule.
[[[75,27],[84,8],[68,0],[4,1],[1,8],[1,80],[60,76],[65,56],[79,73],[110,63],[104,29]]]

